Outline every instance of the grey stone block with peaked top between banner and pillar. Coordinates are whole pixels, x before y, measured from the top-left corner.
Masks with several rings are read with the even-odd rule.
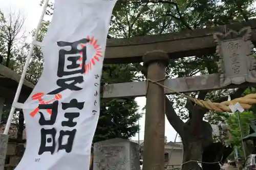
[[[94,143],[93,170],[140,170],[139,145],[121,138]]]

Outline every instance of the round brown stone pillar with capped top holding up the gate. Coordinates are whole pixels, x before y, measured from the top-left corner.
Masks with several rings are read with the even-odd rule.
[[[143,56],[143,62],[147,67],[147,78],[164,85],[168,55],[163,51],[148,52]],[[164,88],[152,82],[147,86],[143,170],[164,170]]]

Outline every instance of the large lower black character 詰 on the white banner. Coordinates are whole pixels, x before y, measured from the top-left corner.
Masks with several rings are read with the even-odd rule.
[[[38,108],[40,110],[51,110],[52,114],[49,120],[46,120],[45,116],[39,111],[40,118],[39,118],[39,125],[41,126],[50,126],[54,125],[56,122],[56,117],[58,114],[58,101],[53,102],[52,104],[39,104]],[[78,102],[76,99],[72,99],[69,103],[61,103],[62,104],[62,110],[67,110],[69,108],[77,108],[78,110],[83,109],[84,102]],[[38,151],[38,155],[41,155],[45,152],[50,152],[52,155],[55,153],[56,150],[56,142],[58,142],[58,149],[59,150],[65,150],[67,153],[70,153],[73,148],[73,143],[76,135],[76,129],[75,126],[77,125],[77,122],[74,121],[75,118],[78,118],[80,115],[80,112],[66,112],[64,114],[64,117],[67,118],[67,120],[63,120],[61,122],[62,127],[70,127],[74,128],[73,130],[60,130],[58,140],[56,139],[57,130],[56,128],[42,128],[41,129],[41,142],[40,147]],[[63,138],[67,137],[67,142],[63,143]]]

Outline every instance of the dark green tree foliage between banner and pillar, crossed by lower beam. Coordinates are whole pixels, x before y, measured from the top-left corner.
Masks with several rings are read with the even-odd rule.
[[[101,86],[124,83],[135,79],[136,71],[130,64],[104,64]],[[138,106],[134,99],[122,98],[105,100],[101,98],[100,117],[94,142],[115,137],[129,139],[138,132]]]

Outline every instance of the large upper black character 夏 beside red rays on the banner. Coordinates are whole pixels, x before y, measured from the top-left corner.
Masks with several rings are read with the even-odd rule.
[[[74,41],[74,42],[65,42],[65,41],[57,42],[57,45],[60,47],[65,47],[65,46],[71,47],[70,51],[67,51],[65,49],[59,50],[59,61],[58,61],[58,70],[57,70],[57,76],[59,78],[62,78],[63,76],[70,76],[70,75],[84,73],[86,60],[87,60],[87,53],[86,53],[87,47],[86,45],[83,45],[81,49],[80,48],[78,49],[78,46],[79,44],[84,44],[89,41],[90,41],[89,39],[83,38],[81,40]],[[81,54],[82,54],[82,58],[81,58]],[[79,68],[79,69],[65,71],[66,57],[67,57],[67,60],[71,62],[70,65],[67,65],[67,69],[69,70],[75,69],[75,68]],[[80,64],[77,64],[77,61],[79,59],[82,59],[81,68],[80,68]],[[73,90],[79,91],[82,88],[78,87],[77,84],[81,84],[82,82],[83,82],[82,75],[76,75],[71,78],[58,79],[56,84],[59,86],[59,88],[49,92],[48,94],[57,94],[66,89],[69,89],[72,91]]]

